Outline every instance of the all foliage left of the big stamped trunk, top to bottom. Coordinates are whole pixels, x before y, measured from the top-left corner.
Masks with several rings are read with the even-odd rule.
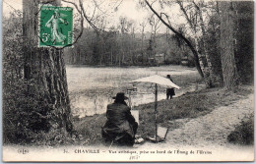
[[[44,102],[45,97],[38,93],[42,88],[35,89],[35,80],[24,79],[22,25],[22,18],[16,12],[3,18],[4,143],[25,144],[43,139],[38,135],[49,132],[54,119],[58,118],[53,106]]]

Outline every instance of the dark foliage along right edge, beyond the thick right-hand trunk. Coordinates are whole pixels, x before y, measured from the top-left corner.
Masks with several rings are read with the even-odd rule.
[[[253,83],[254,65],[254,3],[236,2],[236,40],[235,40],[235,62],[239,81],[242,83]]]

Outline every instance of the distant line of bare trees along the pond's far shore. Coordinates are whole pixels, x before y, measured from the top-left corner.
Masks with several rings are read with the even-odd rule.
[[[85,28],[73,48],[65,49],[69,65],[156,66],[182,63],[194,66],[190,50],[174,34],[122,33],[117,29],[96,32]]]

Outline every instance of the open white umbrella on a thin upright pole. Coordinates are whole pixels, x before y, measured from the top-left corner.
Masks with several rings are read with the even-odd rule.
[[[146,82],[146,83],[155,83],[155,123],[156,123],[156,142],[158,142],[157,137],[158,137],[158,122],[157,122],[157,111],[158,111],[158,84],[166,87],[174,87],[179,89],[180,87],[176,85],[175,83],[171,82],[169,79],[160,77],[159,75],[151,76],[151,77],[146,77],[142,79],[138,79],[135,81],[132,81],[131,83],[137,84],[141,82]]]

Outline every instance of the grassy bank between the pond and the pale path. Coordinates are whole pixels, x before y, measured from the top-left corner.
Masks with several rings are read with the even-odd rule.
[[[172,100],[161,100],[158,103],[158,123],[168,127],[170,131],[178,128],[172,121],[185,118],[196,118],[210,113],[214,108],[227,106],[233,101],[245,98],[253,92],[248,87],[240,87],[235,91],[226,92],[223,88],[204,89],[186,93]],[[142,137],[154,135],[155,130],[155,103],[135,107],[140,111],[140,126],[138,134]],[[84,144],[101,144],[101,126],[105,123],[104,114],[86,117],[74,121],[74,128],[84,137]]]

